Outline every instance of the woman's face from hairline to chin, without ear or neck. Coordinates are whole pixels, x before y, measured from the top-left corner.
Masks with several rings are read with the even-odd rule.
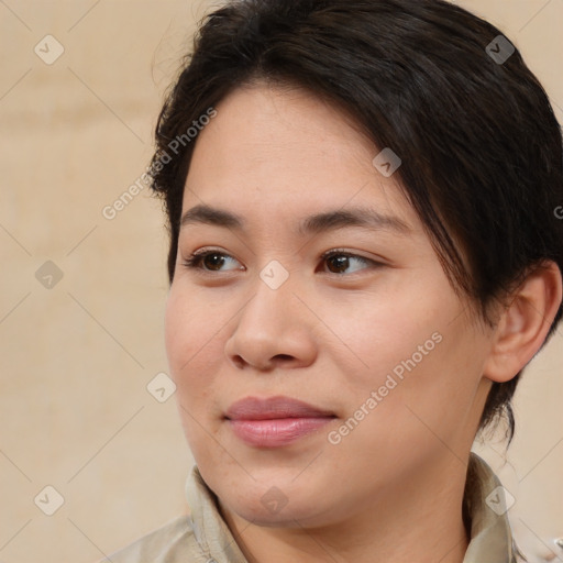
[[[374,166],[380,150],[300,90],[239,89],[217,111],[187,177],[166,311],[207,484],[246,520],[320,526],[459,466],[490,334]]]

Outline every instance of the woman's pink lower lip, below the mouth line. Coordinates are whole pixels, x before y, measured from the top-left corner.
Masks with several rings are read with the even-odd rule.
[[[233,432],[258,448],[287,445],[333,420],[333,417],[276,418],[269,420],[229,420]]]

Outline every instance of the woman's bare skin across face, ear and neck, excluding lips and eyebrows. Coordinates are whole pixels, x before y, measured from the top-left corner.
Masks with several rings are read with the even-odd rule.
[[[264,84],[217,110],[198,136],[183,212],[205,203],[245,228],[181,228],[166,347],[188,443],[240,548],[260,563],[461,563],[463,486],[487,391],[543,342],[561,301],[559,269],[530,276],[487,327],[452,289],[397,176],[373,166],[379,150],[345,115]],[[357,206],[409,230],[296,232],[308,216]],[[227,255],[219,271],[184,265],[205,249]],[[374,263],[351,258],[334,273],[321,258],[334,249]],[[289,275],[277,289],[260,277],[274,260]],[[434,333],[440,343],[331,443]],[[278,395],[335,418],[283,448],[234,435],[224,413],[235,400]],[[261,500],[274,486],[287,501],[277,511]]]

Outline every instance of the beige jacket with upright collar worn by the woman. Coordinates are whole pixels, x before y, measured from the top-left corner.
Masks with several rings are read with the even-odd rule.
[[[467,475],[464,505],[471,541],[463,563],[516,563],[498,478],[475,453]],[[100,563],[247,563],[197,466],[187,479],[186,495],[191,517],[175,518]]]

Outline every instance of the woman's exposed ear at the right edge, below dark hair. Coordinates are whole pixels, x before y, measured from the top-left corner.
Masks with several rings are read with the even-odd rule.
[[[500,313],[484,377],[497,383],[512,379],[542,346],[561,300],[558,265],[550,261],[532,271]]]

